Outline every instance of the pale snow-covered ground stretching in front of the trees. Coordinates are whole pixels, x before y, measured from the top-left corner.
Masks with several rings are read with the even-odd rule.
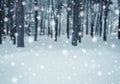
[[[6,40],[0,45],[0,84],[120,84],[120,40],[85,36],[74,47],[61,38],[26,37],[25,48]]]

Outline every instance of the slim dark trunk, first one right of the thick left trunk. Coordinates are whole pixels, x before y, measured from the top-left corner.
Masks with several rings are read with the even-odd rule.
[[[35,38],[34,41],[37,41],[37,27],[38,27],[38,1],[35,0]]]

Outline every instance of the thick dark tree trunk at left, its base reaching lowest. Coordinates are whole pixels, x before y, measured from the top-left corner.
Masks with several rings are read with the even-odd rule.
[[[23,0],[19,0],[16,5],[16,28],[17,28],[17,47],[24,47],[24,6]]]

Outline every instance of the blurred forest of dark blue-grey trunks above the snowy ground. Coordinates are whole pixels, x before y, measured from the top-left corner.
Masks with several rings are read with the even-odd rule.
[[[84,35],[107,41],[120,39],[120,0],[0,0],[0,44],[10,38],[24,47],[47,35],[56,42],[62,35],[77,46]]]

